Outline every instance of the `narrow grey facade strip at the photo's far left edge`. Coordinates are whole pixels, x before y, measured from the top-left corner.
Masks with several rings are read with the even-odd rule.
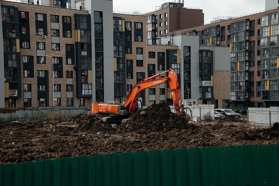
[[[0,2],[1,6],[1,2]],[[4,48],[3,48],[3,27],[2,27],[2,21],[0,23],[0,108],[5,107],[5,83],[4,83]]]

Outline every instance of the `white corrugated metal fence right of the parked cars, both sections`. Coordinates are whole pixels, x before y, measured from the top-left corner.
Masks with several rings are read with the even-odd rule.
[[[250,125],[272,126],[279,122],[279,107],[248,108],[247,122]]]

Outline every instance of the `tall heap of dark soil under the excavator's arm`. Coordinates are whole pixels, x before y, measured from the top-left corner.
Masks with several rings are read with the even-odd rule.
[[[186,119],[172,113],[170,107],[164,103],[153,104],[137,113],[133,113],[130,120],[122,126],[125,132],[163,132],[173,129],[185,130],[192,127]]]

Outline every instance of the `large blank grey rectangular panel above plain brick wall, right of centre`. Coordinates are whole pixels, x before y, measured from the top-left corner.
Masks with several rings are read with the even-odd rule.
[[[230,71],[230,47],[214,47],[214,70]]]

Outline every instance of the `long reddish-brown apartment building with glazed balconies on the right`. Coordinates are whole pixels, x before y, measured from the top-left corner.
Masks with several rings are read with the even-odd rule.
[[[276,99],[275,93],[277,94],[277,92],[274,92],[276,89],[268,92],[269,97],[266,97],[267,91],[262,89],[265,88],[266,83],[269,83],[270,87],[270,83],[273,85],[277,82],[267,82],[269,79],[267,73],[272,70],[272,73],[276,74],[277,71],[270,69],[269,72],[268,69],[261,69],[261,67],[267,68],[265,65],[261,66],[261,63],[269,63],[269,59],[264,60],[266,58],[276,58],[276,56],[269,55],[269,49],[271,49],[270,46],[277,46],[277,42],[274,42],[276,35],[272,35],[270,38],[270,34],[277,34],[277,21],[275,20],[277,20],[278,12],[279,10],[274,8],[237,18],[219,17],[209,24],[181,29],[172,34],[173,36],[196,35],[199,37],[200,46],[230,46],[231,73],[226,77],[231,83],[229,108],[244,110],[247,107],[277,106],[279,100]],[[273,20],[272,24],[271,20]],[[272,59],[273,62],[274,59]],[[272,65],[274,66],[274,64]],[[273,77],[275,78],[277,75]],[[272,95],[274,98],[271,98]],[[270,98],[273,100],[270,101]]]

